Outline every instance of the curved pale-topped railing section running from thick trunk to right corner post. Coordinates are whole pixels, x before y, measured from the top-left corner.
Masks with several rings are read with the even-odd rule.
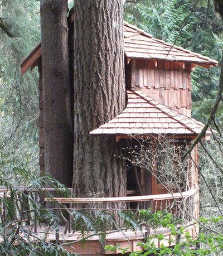
[[[69,204],[69,210],[76,210],[77,205],[106,205],[122,204],[123,209],[139,210],[151,209],[153,212],[158,210],[171,212],[176,218],[181,218],[186,223],[193,220],[198,214],[197,189],[191,189],[185,192],[161,195],[145,196],[125,196],[125,197],[46,197],[45,201],[55,201],[60,204]],[[130,204],[136,202],[137,207],[131,208]],[[123,206],[127,204],[126,206]],[[89,208],[88,208],[89,209]],[[69,223],[67,223],[70,226]]]

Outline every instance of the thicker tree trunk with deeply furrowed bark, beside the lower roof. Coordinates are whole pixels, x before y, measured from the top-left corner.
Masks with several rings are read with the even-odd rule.
[[[77,0],[74,17],[74,193],[124,196],[120,142],[89,135],[125,107],[123,2]]]

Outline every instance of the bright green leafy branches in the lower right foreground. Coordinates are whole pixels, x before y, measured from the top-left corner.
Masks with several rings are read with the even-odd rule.
[[[163,234],[155,233],[145,238],[146,241],[139,242],[137,245],[142,250],[132,252],[130,248],[120,248],[119,245],[106,245],[105,250],[115,252],[117,249],[122,253],[129,253],[130,256],[147,256],[147,255],[166,255],[166,256],[205,256],[221,255],[223,249],[222,234],[203,234],[200,233],[196,238],[186,231],[185,226],[177,225],[170,213],[157,212],[151,214],[149,210],[141,210],[139,214],[149,217],[157,226],[168,228],[171,231],[171,240],[167,240]],[[222,224],[222,217],[218,218],[201,218],[201,224],[211,225],[212,223]],[[157,247],[159,244],[159,247]],[[172,245],[172,246],[169,246]]]

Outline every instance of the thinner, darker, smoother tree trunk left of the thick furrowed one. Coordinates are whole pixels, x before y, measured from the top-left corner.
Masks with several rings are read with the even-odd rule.
[[[67,0],[41,0],[45,171],[72,184],[73,128]]]

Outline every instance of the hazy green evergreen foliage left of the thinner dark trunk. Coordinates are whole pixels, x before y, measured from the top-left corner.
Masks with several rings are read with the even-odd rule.
[[[0,1],[0,18],[11,36],[0,28],[0,165],[11,160],[38,163],[38,74],[21,77],[22,59],[40,41],[39,3],[35,0]]]

